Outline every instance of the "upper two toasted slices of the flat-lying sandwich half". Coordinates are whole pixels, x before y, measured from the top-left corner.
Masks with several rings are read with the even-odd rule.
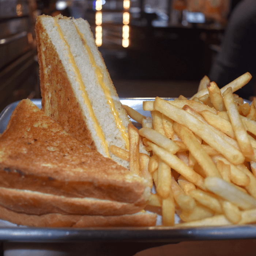
[[[123,215],[142,210],[146,181],[91,150],[29,99],[0,136],[0,205],[24,214]]]

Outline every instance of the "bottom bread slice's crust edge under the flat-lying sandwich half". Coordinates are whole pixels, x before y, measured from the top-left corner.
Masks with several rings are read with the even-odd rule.
[[[143,227],[154,226],[157,215],[143,212],[119,216],[81,216],[56,213],[38,216],[17,213],[0,206],[0,219],[30,227]]]

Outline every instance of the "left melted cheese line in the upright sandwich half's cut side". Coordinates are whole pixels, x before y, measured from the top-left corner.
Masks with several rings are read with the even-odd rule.
[[[82,76],[81,76],[81,73],[78,69],[78,67],[76,66],[75,64],[75,60],[74,60],[74,57],[71,53],[71,50],[70,50],[70,46],[68,45],[67,41],[65,40],[64,36],[63,36],[63,33],[61,32],[61,29],[60,29],[60,25],[57,23],[57,20],[54,19],[54,22],[55,22],[55,25],[57,26],[57,31],[60,35],[60,38],[63,40],[63,42],[65,43],[65,45],[67,46],[68,48],[68,57],[69,57],[69,62],[72,64],[72,67],[73,67],[73,70],[76,74],[76,79],[79,83],[79,89],[82,91],[82,97],[84,99],[84,103],[87,105],[87,108],[88,108],[88,112],[89,112],[89,115],[91,117],[91,119],[93,120],[93,125],[94,125],[94,128],[95,128],[95,131],[96,131],[96,135],[99,137],[99,139],[102,141],[102,144],[103,144],[103,148],[105,150],[105,153],[106,155],[110,158],[109,156],[109,150],[108,150],[108,145],[106,143],[106,140],[105,140],[105,136],[102,132],[102,129],[98,123],[98,120],[97,118],[95,117],[95,114],[93,112],[93,108],[91,106],[91,102],[90,102],[90,99],[88,97],[88,94],[86,93],[86,90],[85,90],[85,86],[84,86],[84,83],[83,83],[83,80],[82,80]]]

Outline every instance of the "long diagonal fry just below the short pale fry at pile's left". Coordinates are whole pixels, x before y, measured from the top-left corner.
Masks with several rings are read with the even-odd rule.
[[[167,150],[157,146],[154,143],[150,144],[153,149],[153,153],[158,155],[158,157],[161,158],[162,161],[166,162],[167,165],[169,165],[182,176],[184,176],[188,181],[191,181],[199,188],[204,189],[204,179],[202,176],[200,176],[193,169],[185,165],[185,163],[183,163],[178,157],[176,157],[176,155],[169,153]]]

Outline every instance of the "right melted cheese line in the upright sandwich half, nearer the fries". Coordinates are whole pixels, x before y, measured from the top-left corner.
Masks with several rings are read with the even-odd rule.
[[[75,25],[76,26],[76,25]],[[119,117],[119,113],[117,112],[113,99],[111,97],[111,93],[109,88],[106,86],[105,82],[103,81],[103,74],[101,71],[101,68],[97,66],[96,61],[94,59],[93,53],[91,52],[90,47],[87,45],[86,43],[86,39],[84,38],[84,35],[79,31],[78,27],[76,26],[76,30],[78,32],[78,34],[80,35],[80,37],[83,39],[83,45],[86,48],[88,54],[89,54],[89,58],[90,58],[90,62],[92,64],[92,66],[95,68],[95,73],[97,74],[97,78],[98,78],[98,82],[106,96],[107,102],[112,110],[113,116],[115,118],[116,124],[118,129],[121,132],[121,136],[123,137],[123,139],[125,140],[125,144],[126,144],[126,149],[129,150],[129,136],[127,134],[127,132],[125,131],[125,127],[123,125],[123,121],[121,120],[121,118]]]

